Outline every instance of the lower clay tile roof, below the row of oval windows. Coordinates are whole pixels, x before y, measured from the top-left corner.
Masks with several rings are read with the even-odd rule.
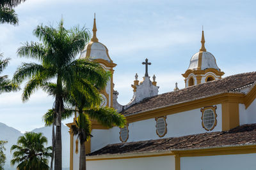
[[[256,124],[241,125],[230,131],[207,132],[179,138],[164,138],[107,145],[88,154],[107,155],[116,153],[161,152],[170,150],[209,148],[234,145],[256,145]]]

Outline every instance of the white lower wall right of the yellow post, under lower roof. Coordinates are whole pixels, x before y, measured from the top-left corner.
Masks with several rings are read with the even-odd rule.
[[[255,170],[255,160],[256,153],[207,157],[181,157],[180,170]]]

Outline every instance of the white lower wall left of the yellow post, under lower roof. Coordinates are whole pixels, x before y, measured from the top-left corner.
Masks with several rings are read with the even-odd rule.
[[[175,170],[175,158],[173,156],[144,157],[136,159],[113,159],[87,161],[88,170]]]

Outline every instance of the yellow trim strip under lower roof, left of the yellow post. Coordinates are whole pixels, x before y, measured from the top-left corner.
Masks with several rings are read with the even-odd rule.
[[[138,153],[140,154],[140,153]],[[124,156],[124,157],[105,157],[105,158],[90,158],[86,157],[86,161],[93,160],[113,160],[113,159],[134,159],[134,158],[147,158],[147,157],[164,157],[164,156],[172,156],[174,153],[157,153],[154,155],[138,155],[138,156]]]

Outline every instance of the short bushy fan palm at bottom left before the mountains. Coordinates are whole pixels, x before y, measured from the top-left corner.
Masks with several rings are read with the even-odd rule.
[[[20,136],[17,145],[12,145],[13,159],[11,165],[18,164],[19,170],[47,170],[48,157],[51,157],[52,147],[45,148],[47,138],[42,133],[26,132],[24,136]]]

